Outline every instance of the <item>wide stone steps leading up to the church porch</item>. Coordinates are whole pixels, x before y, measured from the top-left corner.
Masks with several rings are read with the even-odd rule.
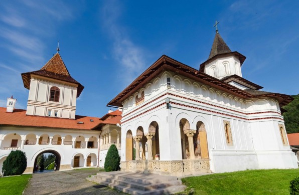
[[[172,194],[185,190],[176,176],[123,171],[99,172],[87,180],[132,194]]]

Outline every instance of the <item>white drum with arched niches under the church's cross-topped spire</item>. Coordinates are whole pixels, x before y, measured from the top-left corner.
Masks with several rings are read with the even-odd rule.
[[[218,58],[205,66],[206,74],[221,79],[229,75],[242,77],[239,59],[234,56]]]

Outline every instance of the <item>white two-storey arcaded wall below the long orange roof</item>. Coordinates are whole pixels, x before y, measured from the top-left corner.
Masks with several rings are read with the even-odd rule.
[[[86,130],[1,127],[0,163],[12,150],[18,149],[26,153],[26,172],[29,173],[33,171],[37,156],[46,151],[55,151],[60,155],[60,170],[74,167],[75,156],[79,156],[79,167],[96,166],[99,134]],[[90,162],[87,162],[87,158]],[[1,169],[2,166],[0,172]]]

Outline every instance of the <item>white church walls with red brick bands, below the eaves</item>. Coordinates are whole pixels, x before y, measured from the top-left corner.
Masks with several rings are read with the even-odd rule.
[[[170,109],[166,108],[167,97]],[[134,137],[142,127],[146,135],[153,121],[159,125],[160,160],[182,160],[187,147],[182,149],[182,141],[187,140],[180,129],[182,119],[188,120],[193,130],[199,121],[204,124],[214,172],[297,167],[287,139],[284,145],[281,142],[278,123],[283,125],[283,117],[275,99],[244,100],[172,72],[164,72],[123,102],[122,160],[126,158],[127,133]]]

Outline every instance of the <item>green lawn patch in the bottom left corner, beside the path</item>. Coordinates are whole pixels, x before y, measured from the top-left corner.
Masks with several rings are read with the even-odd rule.
[[[31,174],[0,178],[0,194],[22,194]]]

